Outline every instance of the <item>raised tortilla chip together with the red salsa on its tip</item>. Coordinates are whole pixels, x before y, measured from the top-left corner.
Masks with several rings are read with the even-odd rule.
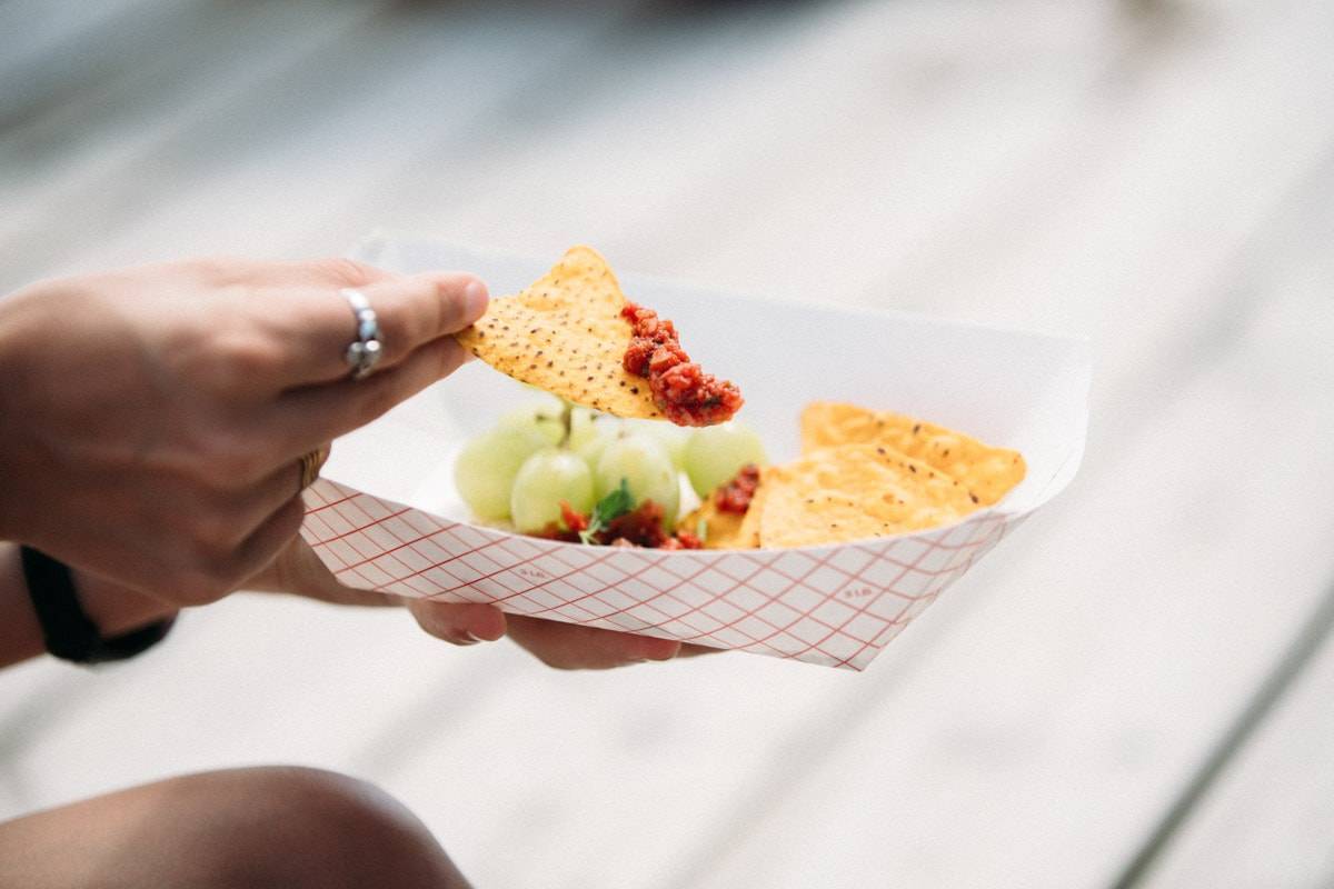
[[[671,321],[626,300],[591,247],[570,248],[527,289],[491,300],[456,339],[502,373],[618,417],[703,427],[742,407],[732,383],[690,360]]]

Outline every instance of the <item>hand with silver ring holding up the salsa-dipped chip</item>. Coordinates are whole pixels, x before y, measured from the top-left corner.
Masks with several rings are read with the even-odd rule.
[[[348,379],[344,287],[386,353]],[[447,376],[482,316],[468,275],[211,260],[0,301],[0,538],[172,605],[219,598],[296,536],[297,460]]]

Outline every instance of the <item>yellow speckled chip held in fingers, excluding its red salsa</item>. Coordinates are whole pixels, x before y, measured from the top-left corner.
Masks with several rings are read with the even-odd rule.
[[[622,367],[632,331],[624,307],[607,261],[572,247],[528,289],[491,300],[455,339],[515,380],[618,417],[656,420],[648,381]]]

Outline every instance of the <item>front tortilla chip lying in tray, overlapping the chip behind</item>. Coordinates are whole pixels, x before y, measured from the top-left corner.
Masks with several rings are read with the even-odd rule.
[[[976,509],[958,480],[924,461],[844,444],[771,468],[759,538],[766,548],[840,544],[934,528]]]

